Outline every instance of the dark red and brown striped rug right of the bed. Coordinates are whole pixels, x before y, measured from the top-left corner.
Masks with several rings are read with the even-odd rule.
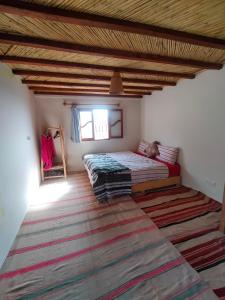
[[[186,187],[133,197],[214,290],[225,299],[225,236],[221,204]]]

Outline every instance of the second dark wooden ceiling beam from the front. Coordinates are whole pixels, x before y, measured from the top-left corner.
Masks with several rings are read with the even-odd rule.
[[[179,65],[202,69],[221,69],[222,64],[205,62],[193,59],[185,59],[172,56],[162,56],[157,54],[133,52],[120,49],[101,48],[73,44],[70,42],[47,40],[43,38],[20,36],[8,33],[0,33],[0,43],[10,45],[21,45],[33,48],[49,49],[71,53],[81,53],[94,56],[113,57],[126,60],[147,61],[160,64]]]

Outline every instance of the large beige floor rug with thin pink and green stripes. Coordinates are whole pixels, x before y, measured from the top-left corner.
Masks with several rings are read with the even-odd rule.
[[[99,203],[86,174],[68,183],[30,208],[0,299],[217,299],[133,199]]]

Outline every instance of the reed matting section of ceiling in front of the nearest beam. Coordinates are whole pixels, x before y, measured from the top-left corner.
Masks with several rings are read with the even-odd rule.
[[[26,2],[225,39],[224,0],[30,0]]]

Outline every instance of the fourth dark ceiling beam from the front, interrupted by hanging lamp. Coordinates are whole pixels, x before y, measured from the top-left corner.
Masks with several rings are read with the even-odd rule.
[[[72,73],[61,73],[61,72],[48,72],[48,71],[33,71],[33,70],[12,70],[15,75],[22,76],[43,76],[43,77],[55,77],[55,78],[69,78],[69,79],[86,79],[86,80],[99,80],[99,81],[110,81],[109,76],[95,76],[95,75],[84,75],[84,74],[72,74]],[[175,86],[175,81],[163,81],[163,80],[151,80],[151,79],[137,79],[137,78],[122,78],[123,82],[129,83],[149,83],[159,85],[170,85]]]

